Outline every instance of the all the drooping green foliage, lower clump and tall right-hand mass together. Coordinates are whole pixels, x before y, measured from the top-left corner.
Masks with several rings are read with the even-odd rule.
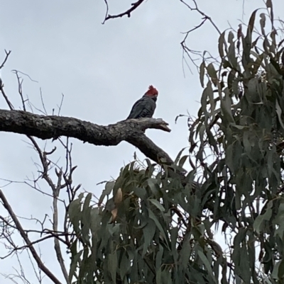
[[[200,64],[189,153],[171,166],[133,162],[97,205],[90,194],[70,204],[74,283],[283,282],[283,30],[266,6],[246,35],[242,25],[220,35],[219,62]],[[227,255],[219,226],[232,237]]]

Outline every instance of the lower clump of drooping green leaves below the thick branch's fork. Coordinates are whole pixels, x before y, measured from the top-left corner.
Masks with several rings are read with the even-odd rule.
[[[111,183],[111,193],[107,183],[104,205],[87,210],[90,195],[80,195],[71,203],[70,222],[80,227],[77,240],[82,249],[79,242],[72,246],[70,279],[74,276],[76,283],[208,283],[208,279],[218,283],[218,267],[211,266],[218,245],[208,237],[212,222],[207,218],[204,225],[199,220],[202,200],[193,183],[195,173],[187,174],[185,185],[181,178],[168,177],[167,171],[173,169],[163,171],[150,161],[143,169],[133,162]],[[216,260],[225,263],[222,254]]]

